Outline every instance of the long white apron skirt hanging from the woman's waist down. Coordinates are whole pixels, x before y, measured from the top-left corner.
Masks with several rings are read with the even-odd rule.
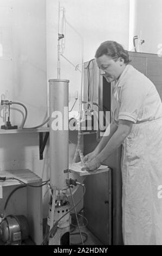
[[[162,245],[161,118],[133,124],[123,143],[121,170],[124,244]]]

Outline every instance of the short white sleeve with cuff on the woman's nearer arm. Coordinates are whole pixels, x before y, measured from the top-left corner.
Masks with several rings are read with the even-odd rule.
[[[144,81],[143,81],[144,82]],[[142,80],[127,80],[121,88],[120,109],[118,120],[128,120],[133,123],[137,122],[139,112],[146,97],[146,87]]]

